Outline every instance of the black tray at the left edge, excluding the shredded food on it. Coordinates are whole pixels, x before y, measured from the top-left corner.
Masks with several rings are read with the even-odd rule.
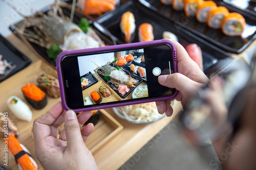
[[[31,61],[23,53],[17,50],[7,39],[0,34],[0,54],[7,62],[12,62],[16,67],[6,76],[0,75],[0,82],[14,75],[16,72],[27,67]]]

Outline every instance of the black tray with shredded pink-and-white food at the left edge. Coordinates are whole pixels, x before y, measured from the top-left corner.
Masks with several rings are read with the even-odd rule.
[[[5,70],[0,72],[0,82],[14,75],[16,72],[27,67],[30,59],[17,50],[8,40],[0,34],[0,62],[6,65]],[[1,68],[2,70],[2,68]]]

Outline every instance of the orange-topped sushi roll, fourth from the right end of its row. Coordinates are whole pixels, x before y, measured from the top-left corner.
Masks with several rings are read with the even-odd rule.
[[[203,3],[203,0],[185,0],[184,11],[186,17],[195,16],[199,5]]]

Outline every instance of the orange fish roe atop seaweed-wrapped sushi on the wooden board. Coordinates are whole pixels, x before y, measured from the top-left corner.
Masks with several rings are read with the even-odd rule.
[[[23,93],[29,98],[34,101],[41,101],[45,98],[46,93],[42,91],[40,88],[36,87],[36,85],[26,84],[22,88]]]

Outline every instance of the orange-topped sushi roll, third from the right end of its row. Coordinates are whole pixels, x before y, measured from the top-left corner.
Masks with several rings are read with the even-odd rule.
[[[196,17],[199,22],[206,22],[208,17],[208,12],[212,8],[216,8],[217,5],[213,1],[204,1],[202,4],[198,6]]]

